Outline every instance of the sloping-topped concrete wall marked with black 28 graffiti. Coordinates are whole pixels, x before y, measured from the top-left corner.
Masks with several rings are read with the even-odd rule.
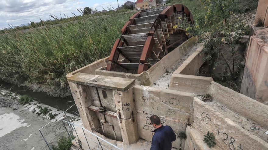
[[[194,123],[192,126],[199,132],[199,138],[200,135],[206,135],[208,131],[214,133],[217,144],[213,149],[268,149],[267,142],[252,135],[229,118],[225,118],[198,98],[194,99],[193,107]],[[204,142],[198,140],[195,142],[199,144],[200,149],[203,149]]]

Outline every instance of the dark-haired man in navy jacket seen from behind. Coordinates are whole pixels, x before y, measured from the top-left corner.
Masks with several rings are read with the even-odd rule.
[[[150,123],[156,128],[153,132],[152,146],[150,150],[171,150],[176,135],[172,128],[168,125],[161,125],[160,118],[157,115],[150,117]]]

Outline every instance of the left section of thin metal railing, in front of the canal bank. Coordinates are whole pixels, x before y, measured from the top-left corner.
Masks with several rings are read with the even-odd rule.
[[[66,120],[68,122],[74,122],[80,119],[78,110],[71,111],[72,109],[77,110],[76,104],[69,107],[67,110],[62,112],[61,114],[57,115],[55,119],[51,120],[48,124],[44,125],[42,128],[39,129],[39,132],[44,139],[46,145],[48,146],[49,150],[53,150],[52,145],[56,143],[57,139],[62,136],[68,136],[65,132],[64,126],[59,121]],[[68,112],[73,112],[68,113]],[[43,145],[44,146],[44,145]],[[43,146],[41,148],[43,148]]]

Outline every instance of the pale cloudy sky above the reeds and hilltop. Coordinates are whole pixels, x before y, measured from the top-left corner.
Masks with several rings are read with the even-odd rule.
[[[118,0],[119,6],[127,1],[136,2],[136,0]],[[118,5],[117,0],[0,0],[0,29],[9,25],[27,24],[30,21],[39,22],[40,18],[49,20],[50,14],[58,18],[61,16],[64,18],[63,14],[81,15],[76,9],[83,10],[85,7],[102,11],[103,8],[115,9]]]

